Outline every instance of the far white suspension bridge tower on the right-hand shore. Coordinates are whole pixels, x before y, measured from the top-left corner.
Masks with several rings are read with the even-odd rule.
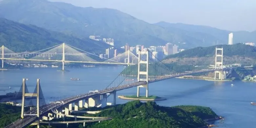
[[[221,51],[221,54],[218,54],[218,51]],[[221,60],[218,59],[221,57]],[[217,79],[217,73],[219,74],[219,79],[223,80],[225,78],[225,73],[223,75],[223,48],[216,48],[215,51],[215,70],[221,68],[221,71],[215,71],[214,79]]]

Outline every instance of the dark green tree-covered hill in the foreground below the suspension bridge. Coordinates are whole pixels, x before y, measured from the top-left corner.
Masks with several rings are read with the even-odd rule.
[[[113,119],[100,123],[86,123],[87,128],[198,128],[207,125],[204,119],[218,117],[208,107],[163,107],[157,105],[156,102],[142,103],[138,100],[108,107],[94,116],[113,117]],[[57,128],[64,127],[64,125],[52,126]],[[81,124],[78,125],[70,124],[69,127],[82,127]]]

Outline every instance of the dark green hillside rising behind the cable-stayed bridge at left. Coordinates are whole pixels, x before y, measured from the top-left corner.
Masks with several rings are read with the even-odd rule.
[[[14,52],[38,51],[67,43],[87,52],[103,53],[110,45],[92,39],[79,39],[53,32],[34,25],[25,25],[0,18],[0,46],[5,45]]]

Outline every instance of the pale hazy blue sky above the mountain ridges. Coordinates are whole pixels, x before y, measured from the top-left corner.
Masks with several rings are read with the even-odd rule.
[[[231,31],[256,30],[256,0],[50,0],[111,8],[149,23],[207,25]]]

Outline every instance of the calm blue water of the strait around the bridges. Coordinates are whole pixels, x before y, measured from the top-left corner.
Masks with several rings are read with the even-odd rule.
[[[101,90],[108,86],[124,69],[119,67],[70,68],[71,72],[56,72],[55,68],[28,68],[24,70],[0,71],[0,95],[19,91],[22,78],[29,78],[27,86],[33,92],[36,78],[40,78],[46,102],[50,97],[63,98]],[[71,81],[70,78],[80,81]],[[231,84],[234,84],[231,87]],[[12,90],[9,91],[9,86]],[[5,91],[4,91],[5,90]],[[168,79],[150,84],[149,94],[167,98],[157,101],[162,106],[201,105],[212,108],[218,115],[224,116],[224,123],[217,124],[225,128],[256,127],[256,106],[250,102],[256,100],[256,84],[253,82],[214,82],[191,79]],[[137,88],[117,92],[119,95],[136,95]],[[140,91],[145,95],[145,89]],[[112,102],[113,96],[108,98]],[[118,104],[127,100],[117,99]]]

